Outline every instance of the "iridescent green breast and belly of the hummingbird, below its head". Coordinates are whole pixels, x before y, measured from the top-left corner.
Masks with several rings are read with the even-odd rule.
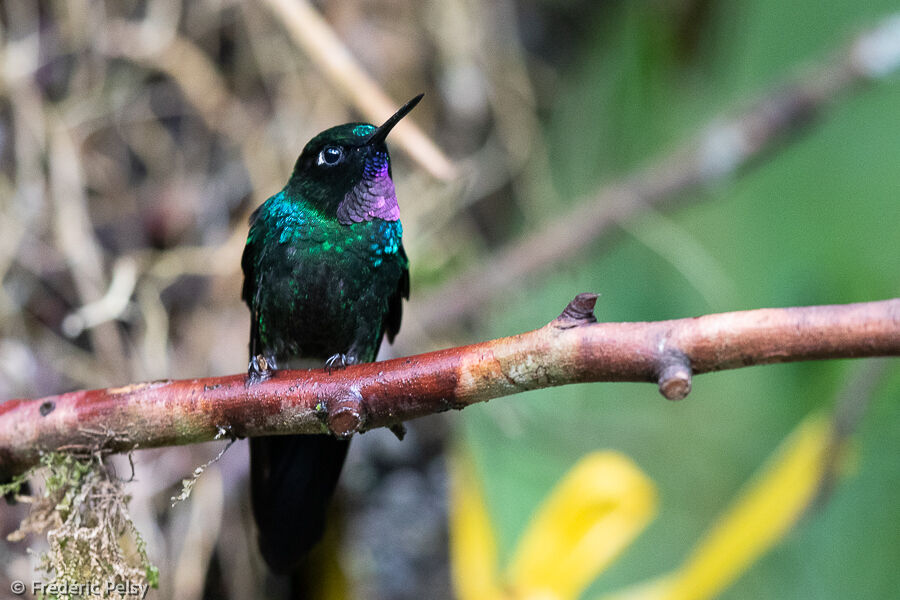
[[[243,261],[252,356],[374,360],[382,334],[392,339],[399,329],[409,293],[401,235],[399,221],[342,224],[296,190],[267,200]]]

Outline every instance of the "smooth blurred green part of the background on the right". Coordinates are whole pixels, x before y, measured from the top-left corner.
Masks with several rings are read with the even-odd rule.
[[[892,8],[892,2],[768,0],[610,7],[587,27],[591,35],[564,71],[546,121],[559,204],[664,152],[710,115],[733,114]],[[702,23],[679,20],[679,11],[692,9]],[[689,27],[696,38],[688,41]],[[555,314],[582,290],[602,294],[601,320],[894,296],[898,159],[895,80],[842,102],[799,141],[704,191],[698,204],[629,222],[612,243],[529,284],[519,301],[494,314],[488,332],[532,327],[536,315]],[[680,272],[674,265],[683,263],[693,266]],[[897,366],[889,362],[860,424],[858,470],[722,597],[896,594]],[[651,386],[571,386],[474,407],[461,417],[507,552],[560,474],[591,450],[621,450],[657,483],[658,518],[592,588],[610,591],[677,566],[805,415],[834,406],[841,394],[862,400],[859,382],[855,389],[851,382],[855,375],[864,380],[863,370],[831,361],[718,373],[698,378],[677,404],[661,402]]]

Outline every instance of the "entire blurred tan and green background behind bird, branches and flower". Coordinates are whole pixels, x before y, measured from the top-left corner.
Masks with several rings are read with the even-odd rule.
[[[274,4],[0,6],[3,398],[246,367],[247,215],[280,189],[312,135],[360,118]],[[802,137],[676,211],[621,223],[478,318],[437,335],[417,324],[416,306],[715,115],[737,114],[831,56],[896,2],[315,6],[397,104],[426,92],[413,119],[459,171],[441,181],[393,150],[413,292],[398,346],[383,355],[532,329],[581,291],[602,294],[601,320],[900,291],[894,77],[842,97]],[[722,597],[893,597],[898,396],[896,361],[832,361],[706,375],[677,404],[651,386],[570,386],[415,422],[403,443],[368,433],[342,480],[342,541],[330,545],[346,575],[338,589],[452,596],[451,441],[473,457],[501,561],[581,457],[630,457],[656,486],[658,514],[585,594],[598,597],[675,568],[805,416],[838,406],[861,414],[853,467]],[[174,508],[181,478],[218,446],[136,455],[132,511],[161,571],[159,597],[252,598],[277,585],[262,583],[242,446]],[[22,511],[4,509],[4,534]],[[2,543],[5,578],[31,579],[27,545]]]

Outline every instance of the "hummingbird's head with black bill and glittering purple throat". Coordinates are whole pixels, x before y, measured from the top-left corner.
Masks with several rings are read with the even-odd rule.
[[[314,208],[345,224],[400,218],[385,139],[415,108],[419,94],[381,127],[346,123],[326,129],[306,144],[288,186]]]

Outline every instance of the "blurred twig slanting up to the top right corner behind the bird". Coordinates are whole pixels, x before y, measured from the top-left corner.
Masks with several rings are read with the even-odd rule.
[[[831,62],[776,90],[732,119],[716,119],[699,139],[610,184],[538,231],[431,291],[410,314],[429,334],[476,317],[482,306],[577,255],[617,223],[647,207],[670,209],[796,137],[841,94],[900,68],[900,14],[860,35]]]

